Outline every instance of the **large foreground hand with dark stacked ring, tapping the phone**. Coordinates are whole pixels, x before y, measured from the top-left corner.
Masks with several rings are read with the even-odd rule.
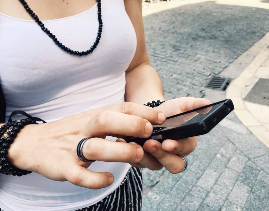
[[[112,184],[109,172],[93,172],[90,163],[76,154],[78,142],[92,137],[83,146],[89,160],[139,163],[144,150],[137,144],[105,140],[112,136],[149,137],[151,124],[162,124],[163,112],[135,103],[120,103],[105,109],[92,109],[61,120],[27,125],[10,145],[8,157],[20,169],[34,171],[56,181],[98,189]]]

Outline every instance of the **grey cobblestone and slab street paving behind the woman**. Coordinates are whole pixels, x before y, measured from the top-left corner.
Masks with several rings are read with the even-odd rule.
[[[269,12],[204,2],[144,17],[144,26],[165,97],[203,97],[208,77],[269,31]],[[144,211],[268,210],[269,149],[233,113],[198,137],[188,159],[179,174],[143,170]]]

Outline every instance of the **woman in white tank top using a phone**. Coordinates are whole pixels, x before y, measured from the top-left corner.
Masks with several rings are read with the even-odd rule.
[[[210,103],[178,98],[143,106],[164,96],[146,52],[141,0],[0,0],[0,12],[6,121],[13,110],[24,110],[48,122],[25,126],[10,145],[11,163],[33,173],[1,175],[0,208],[140,210],[140,168],[164,166],[179,173],[182,155],[194,150],[196,137],[163,144],[148,140],[144,150],[123,138],[149,137],[151,123]],[[87,52],[101,27],[100,42],[88,55],[70,54],[44,27],[74,51]],[[106,140],[108,135],[119,139]],[[82,154],[96,162],[83,162],[76,154],[85,137],[90,139]]]

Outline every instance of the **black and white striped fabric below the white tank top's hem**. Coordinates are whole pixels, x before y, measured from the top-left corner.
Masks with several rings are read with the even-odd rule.
[[[115,191],[100,202],[76,211],[140,211],[142,190],[142,170],[131,167]]]

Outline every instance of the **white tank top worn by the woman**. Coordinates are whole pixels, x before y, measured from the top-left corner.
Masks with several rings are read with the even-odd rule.
[[[13,110],[24,110],[50,122],[124,101],[125,70],[136,51],[136,34],[123,0],[102,0],[102,19],[98,47],[91,55],[80,57],[62,51],[33,20],[0,13],[0,78],[6,120]],[[97,36],[97,5],[78,15],[43,23],[68,48],[85,51]],[[114,191],[129,168],[128,163],[91,164],[90,170],[109,171],[115,177],[111,186],[98,190],[49,180],[37,173],[22,177],[1,174],[0,208],[84,208]]]

